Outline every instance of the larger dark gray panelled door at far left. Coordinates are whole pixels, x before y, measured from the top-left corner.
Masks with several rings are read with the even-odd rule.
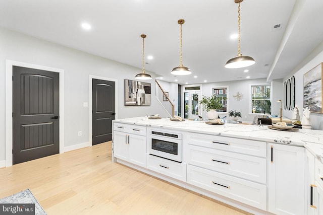
[[[59,73],[13,66],[13,164],[58,154]]]

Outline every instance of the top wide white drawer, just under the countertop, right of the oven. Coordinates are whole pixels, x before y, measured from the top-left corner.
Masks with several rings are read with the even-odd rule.
[[[212,149],[266,157],[266,143],[262,141],[224,137],[218,135],[187,133],[188,144]]]

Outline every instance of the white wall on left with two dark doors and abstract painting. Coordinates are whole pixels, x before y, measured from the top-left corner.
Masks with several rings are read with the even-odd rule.
[[[125,107],[124,80],[135,80],[141,72],[135,68],[113,60],[87,54],[68,47],[26,36],[0,28],[0,161],[5,160],[5,61],[6,59],[65,70],[65,147],[82,144],[89,140],[89,75],[118,80],[118,118],[145,116],[159,113],[167,116],[155,99],[155,82],[151,83],[151,105]],[[116,75],[117,74],[117,75]],[[82,136],[78,136],[82,131]]]

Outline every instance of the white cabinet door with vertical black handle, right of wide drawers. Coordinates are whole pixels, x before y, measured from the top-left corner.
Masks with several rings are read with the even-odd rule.
[[[305,213],[305,149],[268,143],[268,211]]]

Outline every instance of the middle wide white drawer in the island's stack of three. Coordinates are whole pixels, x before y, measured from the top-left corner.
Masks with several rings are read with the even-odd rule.
[[[266,159],[189,145],[188,164],[266,183]]]

